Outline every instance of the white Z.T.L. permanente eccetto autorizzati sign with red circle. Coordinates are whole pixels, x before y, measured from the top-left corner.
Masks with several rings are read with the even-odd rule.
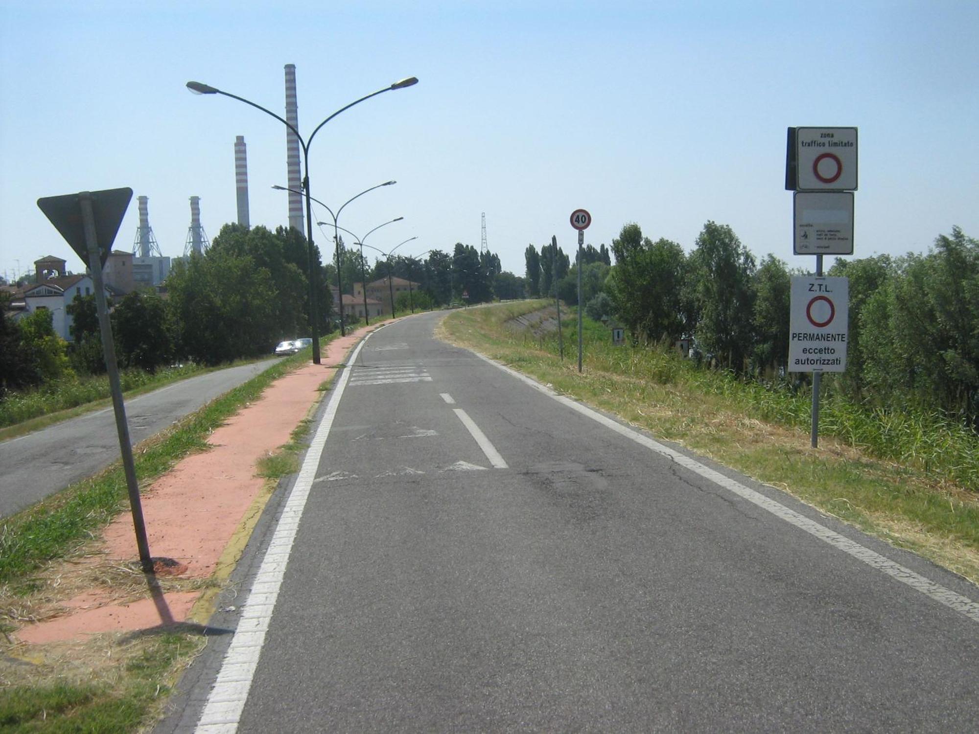
[[[845,371],[849,318],[846,278],[793,276],[789,372]]]

